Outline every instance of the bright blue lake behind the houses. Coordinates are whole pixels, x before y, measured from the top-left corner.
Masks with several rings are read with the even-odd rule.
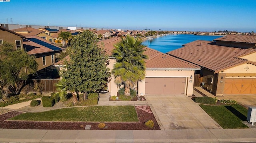
[[[162,37],[154,38],[153,40],[146,40],[143,42],[144,45],[160,51],[162,53],[167,53],[169,51],[178,49],[186,43],[190,43],[196,40],[206,40],[212,41],[213,39],[222,37],[212,36],[212,35],[192,35],[192,34],[170,34]]]

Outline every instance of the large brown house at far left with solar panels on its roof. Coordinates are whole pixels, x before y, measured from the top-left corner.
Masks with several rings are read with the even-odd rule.
[[[49,68],[53,70],[55,54],[62,51],[62,48],[56,47],[41,37],[25,37],[4,27],[0,27],[0,42],[14,43],[16,49],[24,49],[28,55],[35,55],[36,62],[38,63],[37,72],[42,74],[46,74],[45,72],[51,72],[49,71]]]

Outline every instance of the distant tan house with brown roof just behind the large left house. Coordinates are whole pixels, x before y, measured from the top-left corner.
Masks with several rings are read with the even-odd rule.
[[[24,27],[24,28],[19,28],[19,29],[13,29],[12,31],[19,33],[21,35],[24,35],[24,36],[38,36],[47,41],[54,42],[53,41],[54,38],[52,36],[44,33],[44,31],[42,31],[42,30],[38,30],[35,28]]]

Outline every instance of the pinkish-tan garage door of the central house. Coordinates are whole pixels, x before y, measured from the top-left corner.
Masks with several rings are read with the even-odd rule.
[[[180,95],[185,94],[185,77],[147,77],[146,95]]]

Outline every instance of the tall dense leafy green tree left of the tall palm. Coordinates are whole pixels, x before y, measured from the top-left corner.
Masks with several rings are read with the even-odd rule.
[[[98,39],[91,31],[84,31],[71,41],[70,60],[65,61],[66,70],[62,77],[69,89],[84,93],[104,87],[110,76],[107,68],[108,57],[103,48],[98,47]]]

